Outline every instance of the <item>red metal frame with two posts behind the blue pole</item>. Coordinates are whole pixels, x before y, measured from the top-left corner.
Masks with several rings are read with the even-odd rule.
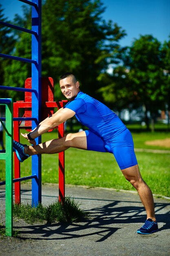
[[[25,88],[31,88],[31,78],[26,79]],[[54,108],[60,109],[64,106],[67,101],[53,101],[53,79],[45,78],[42,79],[43,90],[42,90],[42,115],[43,118],[53,114]],[[46,87],[46,85],[48,85]],[[25,108],[25,117],[32,116],[32,97],[30,92],[25,92],[25,101],[17,101],[13,106],[13,117],[19,117],[19,108]],[[26,130],[31,130],[31,121],[25,121],[24,126],[20,126],[19,121],[14,121],[14,139],[16,141],[20,140],[19,130],[20,128],[25,128]],[[58,137],[64,137],[64,123],[58,126]],[[64,202],[65,199],[65,154],[64,152],[59,153],[59,201]],[[14,166],[15,166],[15,178],[20,178],[20,162],[16,155],[14,156]],[[20,203],[20,182],[15,183],[15,202]]]

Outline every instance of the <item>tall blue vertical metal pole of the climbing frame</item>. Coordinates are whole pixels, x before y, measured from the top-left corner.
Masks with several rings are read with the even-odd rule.
[[[37,64],[32,64],[32,88],[37,94],[32,93],[32,115],[37,119],[37,123],[32,121],[34,129],[41,121],[41,0],[32,0],[37,7],[32,7],[32,30],[38,36],[32,35],[32,60]],[[41,143],[41,137],[36,139],[36,144]],[[32,156],[32,175],[36,174],[38,182],[32,180],[32,206],[37,206],[41,202],[41,155]]]

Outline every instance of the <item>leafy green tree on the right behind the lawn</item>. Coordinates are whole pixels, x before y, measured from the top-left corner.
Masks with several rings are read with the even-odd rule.
[[[110,107],[131,108],[144,106],[152,119],[158,110],[170,105],[170,41],[163,45],[151,35],[140,36],[122,55],[121,65],[113,72],[100,74],[103,82],[99,89]]]

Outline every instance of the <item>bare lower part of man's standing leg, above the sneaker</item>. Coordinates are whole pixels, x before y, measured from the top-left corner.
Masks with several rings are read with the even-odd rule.
[[[141,198],[141,202],[144,204],[144,207],[146,209],[147,219],[152,219],[155,222],[156,218],[153,195],[148,185],[142,179],[138,165],[126,168],[121,171],[125,176],[126,180],[128,180],[132,184],[132,186],[137,189],[137,192],[139,193],[139,196]]]

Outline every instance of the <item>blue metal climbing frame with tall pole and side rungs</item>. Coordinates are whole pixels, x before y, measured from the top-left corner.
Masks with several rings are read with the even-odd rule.
[[[16,61],[24,61],[32,65],[32,89],[15,88],[8,86],[0,86],[0,89],[17,90],[32,92],[32,129],[40,123],[41,109],[41,0],[19,0],[32,6],[32,29],[24,29],[6,22],[0,22],[1,25],[18,29],[26,33],[32,34],[32,58],[20,58],[7,54],[0,54],[2,58],[10,58]],[[20,118],[19,118],[20,119]],[[18,120],[19,120],[18,119]],[[23,118],[22,118],[23,119]],[[21,120],[21,119],[20,119]],[[26,120],[26,118],[25,118]],[[29,119],[30,120],[30,119]],[[36,143],[41,143],[41,137],[36,139]],[[32,206],[37,206],[41,202],[41,155],[32,156]]]

